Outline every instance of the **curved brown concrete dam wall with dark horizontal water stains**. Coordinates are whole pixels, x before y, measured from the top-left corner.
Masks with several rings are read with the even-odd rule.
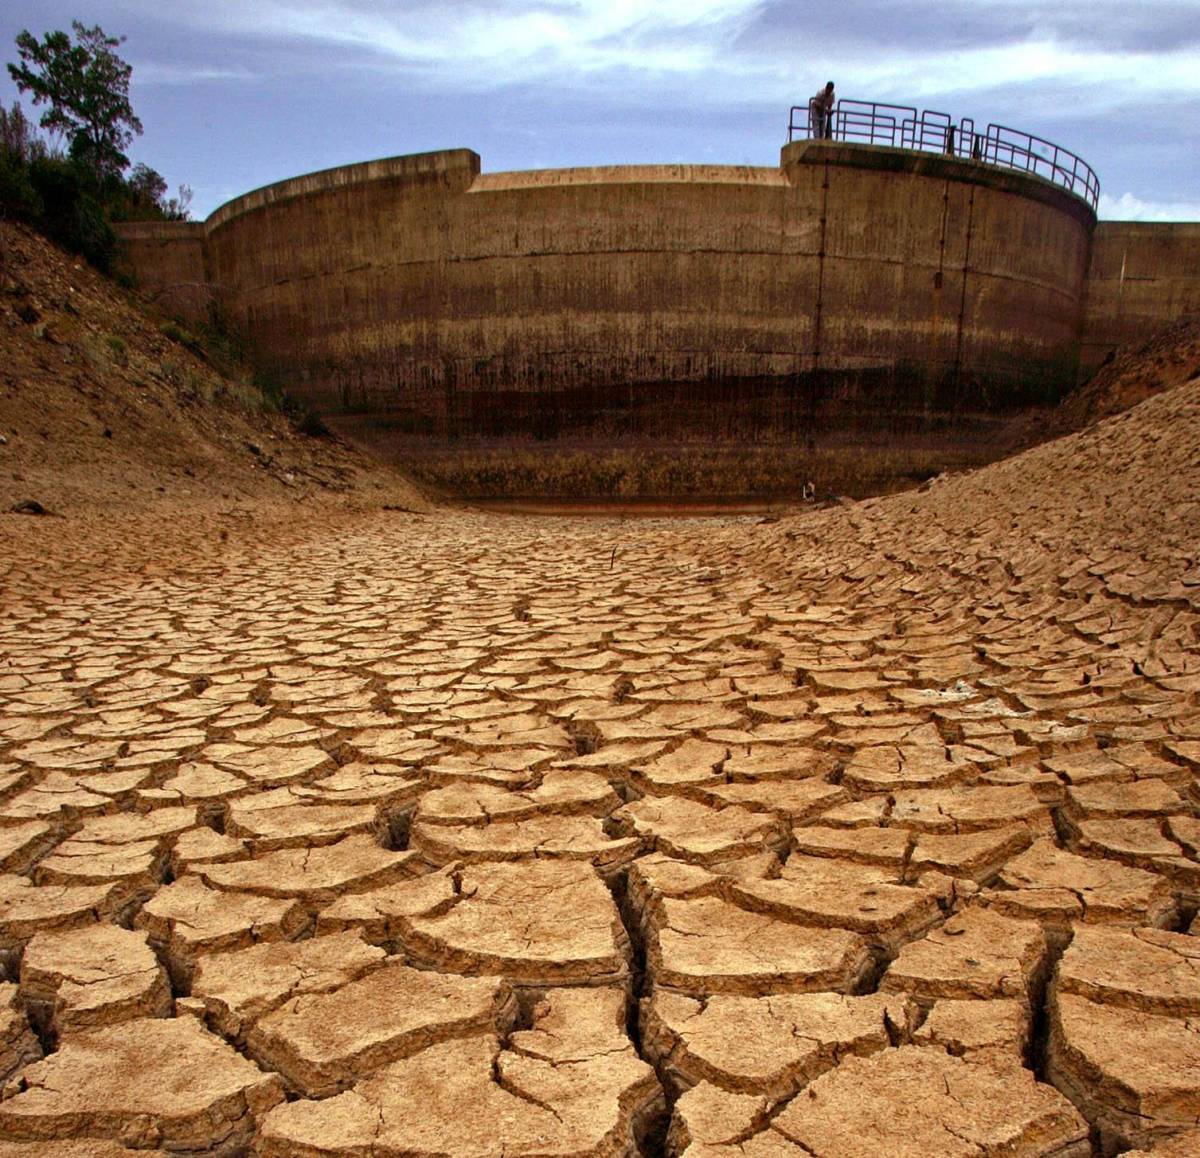
[[[468,150],[396,157],[268,186],[199,224],[126,227],[124,245],[148,292],[217,311],[359,437],[811,442],[1052,401],[1081,350],[1099,360],[1194,300],[1181,260],[1171,305],[1139,283],[1114,311],[1116,247],[1150,242],[1093,234],[1091,208],[1036,176],[804,140],[778,168],[484,174]],[[1166,242],[1184,244],[1200,242]]]

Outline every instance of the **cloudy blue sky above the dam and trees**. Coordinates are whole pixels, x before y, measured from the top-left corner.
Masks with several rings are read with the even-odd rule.
[[[832,78],[1060,142],[1104,217],[1200,220],[1200,0],[5,0],[4,59],[72,18],[127,37],[133,158],[196,216],[457,146],[485,172],[776,164],[790,106]]]

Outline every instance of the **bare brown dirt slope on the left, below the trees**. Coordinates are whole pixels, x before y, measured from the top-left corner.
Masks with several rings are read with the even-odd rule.
[[[299,433],[245,373],[37,234],[0,222],[0,514],[372,503],[398,474]]]

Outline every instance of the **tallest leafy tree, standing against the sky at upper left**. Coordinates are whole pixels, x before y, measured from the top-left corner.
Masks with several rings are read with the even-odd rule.
[[[104,178],[128,168],[125,150],[142,132],[130,104],[133,68],[115,52],[124,36],[106,36],[98,24],[84,28],[78,20],[71,28],[73,42],[61,31],[47,32],[41,41],[20,32],[22,64],[8,65],[8,73],[22,92],[32,94],[34,104],[48,106],[42,127],[68,138],[72,158],[86,166],[100,187]]]

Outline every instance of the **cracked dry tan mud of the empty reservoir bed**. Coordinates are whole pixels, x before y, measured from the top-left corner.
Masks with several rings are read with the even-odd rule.
[[[1200,1153],[1198,479],[10,524],[0,1158]]]

